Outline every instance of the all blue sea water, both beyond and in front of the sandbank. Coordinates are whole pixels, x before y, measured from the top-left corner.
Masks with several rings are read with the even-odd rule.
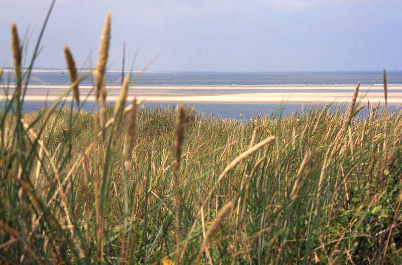
[[[84,72],[82,72],[83,74]],[[136,77],[138,72],[125,73]],[[14,81],[12,71],[9,72],[8,84],[12,87]],[[107,86],[112,86],[122,73],[110,71],[106,74]],[[5,75],[3,75],[4,87]],[[7,80],[7,79],[6,79]],[[360,81],[361,85],[382,85],[382,71],[355,71],[355,72],[145,72],[135,82],[135,86],[159,86],[174,87],[177,92],[190,92],[188,87],[199,86],[334,86],[334,90],[320,91],[319,87],[315,92],[336,92],[337,87],[349,85],[354,86]],[[81,85],[93,85],[93,78],[86,77]],[[68,85],[68,73],[64,69],[36,69],[31,73],[29,84],[31,85]],[[402,71],[387,72],[387,84],[402,85]],[[181,87],[186,86],[187,90]],[[234,88],[235,89],[235,88]],[[344,90],[343,90],[344,91]],[[250,90],[248,90],[250,92]],[[256,91],[257,92],[257,91]],[[280,89],[275,92],[280,92]],[[302,91],[303,92],[303,91]],[[306,93],[312,92],[306,91]],[[349,91],[348,91],[349,92]],[[352,91],[350,91],[352,92]],[[395,91],[402,92],[402,91]],[[236,91],[241,93],[241,91]],[[34,101],[24,102],[24,111],[34,111],[43,107],[49,102]],[[67,104],[67,103],[66,103]],[[69,103],[68,103],[69,104]],[[110,102],[113,104],[113,102]],[[144,103],[146,108],[175,106],[176,103]],[[195,108],[207,116],[217,118],[239,119],[239,117],[250,118],[257,115],[288,116],[302,113],[308,110],[310,104],[284,103],[284,104],[240,104],[240,103],[191,103]],[[86,102],[81,106],[87,111],[94,108],[94,103]],[[333,108],[338,106],[332,105]],[[389,106],[392,112],[396,106]],[[364,112],[362,112],[364,114]],[[241,114],[241,116],[240,116]]]

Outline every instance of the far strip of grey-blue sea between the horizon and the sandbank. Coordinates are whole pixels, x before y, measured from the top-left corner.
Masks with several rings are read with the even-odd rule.
[[[128,73],[126,73],[128,74]],[[132,73],[133,77],[138,73]],[[114,84],[122,74],[108,72],[107,85]],[[387,83],[402,84],[402,71],[387,73]],[[382,84],[382,71],[368,72],[146,72],[135,83],[136,86],[264,86],[264,85],[362,85]],[[65,70],[33,72],[33,85],[69,84]],[[87,77],[82,85],[91,85],[93,80]]]

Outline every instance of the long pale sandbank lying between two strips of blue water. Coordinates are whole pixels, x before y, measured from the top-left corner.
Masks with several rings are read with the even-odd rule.
[[[31,85],[25,100],[54,101],[68,86]],[[81,101],[94,101],[91,86],[80,86]],[[188,103],[316,103],[348,102],[355,86],[133,86],[128,101],[134,97],[146,102],[188,102]],[[360,86],[359,98],[363,102],[377,104],[384,102],[382,86]],[[108,89],[107,101],[116,101],[120,87]],[[388,103],[402,103],[402,86],[388,86]],[[71,93],[68,96],[71,99]]]

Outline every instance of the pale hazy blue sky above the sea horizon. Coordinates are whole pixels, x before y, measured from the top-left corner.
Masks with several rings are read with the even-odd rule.
[[[50,0],[0,0],[0,63],[12,66],[10,26],[25,59]],[[400,0],[57,0],[34,67],[65,68],[63,45],[90,68],[108,11],[108,67],[139,71],[402,70]],[[137,56],[136,56],[137,54]]]

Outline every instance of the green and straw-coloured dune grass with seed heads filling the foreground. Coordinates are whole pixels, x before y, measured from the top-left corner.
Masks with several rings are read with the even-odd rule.
[[[356,116],[358,89],[346,112],[238,121],[125,107],[126,82],[99,111],[24,113],[25,71],[0,115],[1,263],[402,262],[402,116]]]

